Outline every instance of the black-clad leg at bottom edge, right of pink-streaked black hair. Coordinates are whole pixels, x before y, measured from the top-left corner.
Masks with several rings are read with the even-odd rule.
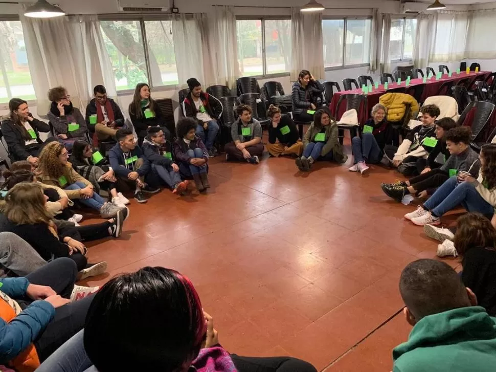
[[[290,357],[240,357],[231,354],[231,359],[239,372],[317,372],[308,362]]]

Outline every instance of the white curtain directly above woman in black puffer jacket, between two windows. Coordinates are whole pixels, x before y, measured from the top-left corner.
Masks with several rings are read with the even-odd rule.
[[[290,80],[298,80],[301,70],[310,71],[315,79],[323,79],[322,13],[305,14],[299,8],[292,8],[291,12]]]

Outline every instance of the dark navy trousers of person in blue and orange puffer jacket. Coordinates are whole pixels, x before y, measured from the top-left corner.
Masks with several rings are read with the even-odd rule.
[[[48,262],[47,265],[28,274],[26,278],[32,284],[49,286],[60,296],[69,299],[76,282],[76,275],[77,269],[74,261],[62,257]],[[54,319],[48,323],[44,331],[41,331],[34,342],[41,362],[82,330],[92,299],[93,296],[89,296],[55,309]],[[27,300],[24,304],[28,305],[31,302],[33,300]]]

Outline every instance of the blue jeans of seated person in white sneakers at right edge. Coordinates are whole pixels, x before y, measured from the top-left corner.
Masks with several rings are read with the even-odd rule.
[[[424,207],[440,217],[459,204],[469,212],[494,213],[494,207],[482,198],[472,184],[458,183],[456,177],[450,177],[444,182],[424,203]]]

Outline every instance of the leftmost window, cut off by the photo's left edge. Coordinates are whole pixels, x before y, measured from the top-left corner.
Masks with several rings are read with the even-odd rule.
[[[36,99],[20,21],[0,21],[0,103]]]

